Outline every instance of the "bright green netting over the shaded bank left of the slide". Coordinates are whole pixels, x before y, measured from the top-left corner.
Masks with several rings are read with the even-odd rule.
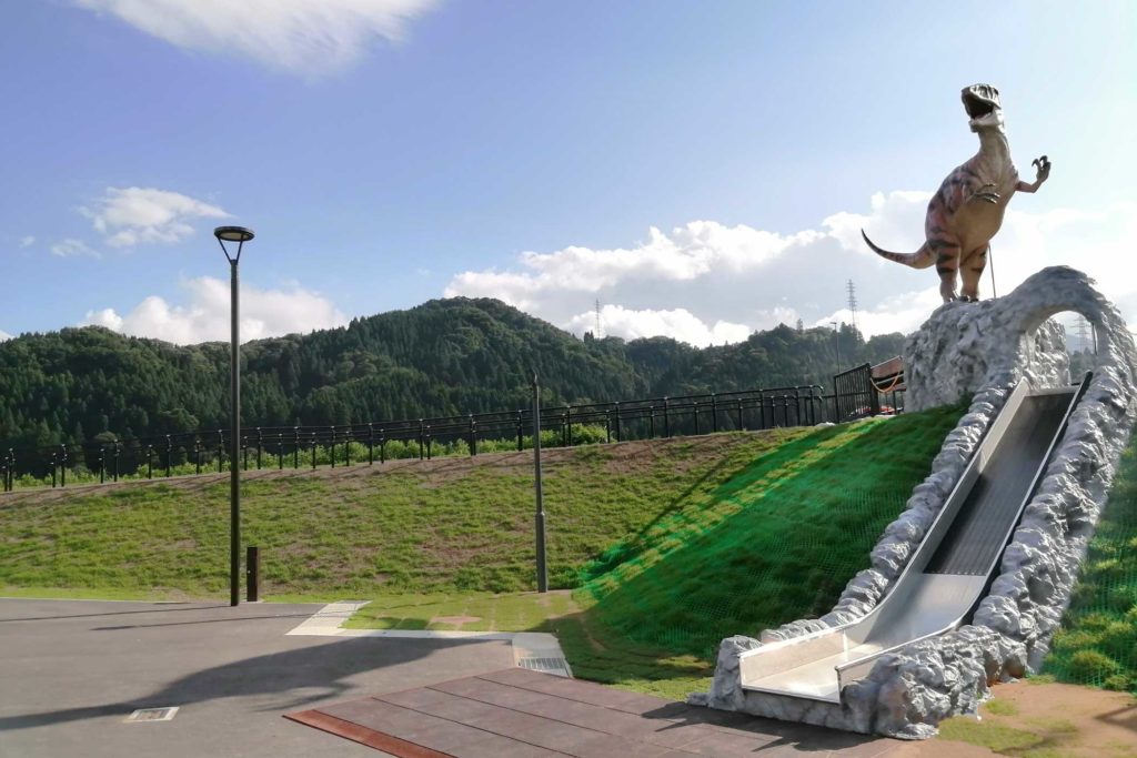
[[[960,408],[820,430],[584,567],[621,639],[713,660],[731,634],[828,613],[929,470]]]

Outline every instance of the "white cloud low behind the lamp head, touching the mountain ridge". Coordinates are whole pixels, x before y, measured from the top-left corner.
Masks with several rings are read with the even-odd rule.
[[[114,308],[88,311],[82,325],[106,326],[123,334],[194,344],[230,339],[230,285],[202,276],[185,280],[188,305],[172,305],[157,295],[146,298],[126,315]],[[347,317],[316,292],[257,290],[241,286],[241,341],[310,332],[347,324]]]

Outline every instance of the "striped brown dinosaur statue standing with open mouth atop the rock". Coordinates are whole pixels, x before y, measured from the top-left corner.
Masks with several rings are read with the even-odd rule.
[[[948,174],[928,203],[923,245],[913,253],[889,252],[873,244],[861,230],[869,247],[889,260],[912,268],[936,264],[944,302],[979,300],[979,277],[987,267],[991,238],[1003,225],[1006,205],[1015,192],[1037,191],[1051,175],[1051,161],[1043,156],[1031,161],[1034,184],[1019,180],[1003,130],[998,90],[990,84],[964,88],[963,107],[971,117],[971,131],[979,134],[979,152]],[[958,297],[955,294],[956,274],[963,277]]]

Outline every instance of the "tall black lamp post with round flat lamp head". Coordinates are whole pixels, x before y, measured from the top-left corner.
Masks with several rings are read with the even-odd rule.
[[[214,236],[229,260],[230,270],[229,605],[236,606],[241,602],[241,469],[238,466],[241,455],[241,340],[236,264],[241,260],[241,248],[254,235],[252,230],[243,226],[218,226]],[[234,255],[225,248],[226,242],[236,243]]]

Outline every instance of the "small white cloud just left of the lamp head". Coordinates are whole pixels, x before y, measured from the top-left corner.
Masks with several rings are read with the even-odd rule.
[[[108,186],[93,208],[80,208],[113,248],[181,242],[193,234],[194,218],[227,218],[217,206],[180,192]]]

